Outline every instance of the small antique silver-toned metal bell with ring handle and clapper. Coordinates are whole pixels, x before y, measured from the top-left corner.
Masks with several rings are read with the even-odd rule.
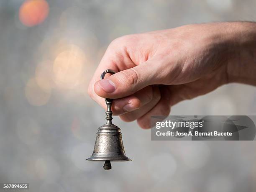
[[[107,73],[115,74],[113,70],[108,69],[101,74],[100,79],[104,79]],[[105,101],[107,104],[107,122],[98,128],[92,156],[86,160],[105,161],[103,168],[109,170],[112,168],[110,161],[131,161],[131,159],[125,155],[120,128],[112,123],[111,105],[113,99],[106,98]]]

